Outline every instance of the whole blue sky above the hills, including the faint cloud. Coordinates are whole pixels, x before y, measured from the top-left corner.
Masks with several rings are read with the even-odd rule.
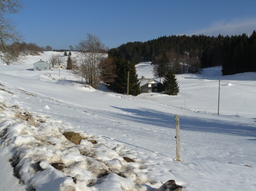
[[[69,49],[89,32],[109,48],[159,36],[239,35],[256,29],[256,1],[24,0],[12,15],[25,42]]]

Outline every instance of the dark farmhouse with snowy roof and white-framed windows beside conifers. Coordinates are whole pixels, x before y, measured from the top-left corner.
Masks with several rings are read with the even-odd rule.
[[[144,76],[142,76],[142,78],[140,79],[141,93],[160,92],[161,89],[162,83],[156,80],[144,78]]]

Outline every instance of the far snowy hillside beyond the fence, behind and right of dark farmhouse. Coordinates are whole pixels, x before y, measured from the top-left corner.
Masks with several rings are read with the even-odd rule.
[[[140,63],[136,65],[136,68],[138,75],[142,74],[145,75],[145,78],[153,78],[150,63]],[[180,74],[176,75],[176,78],[180,86],[180,93],[177,96],[148,93],[140,94],[138,97],[191,111],[215,114],[218,111],[218,80],[221,80],[220,114],[256,117],[255,72],[222,76],[221,67],[213,67],[204,69],[202,75]],[[154,79],[160,80],[159,78]]]

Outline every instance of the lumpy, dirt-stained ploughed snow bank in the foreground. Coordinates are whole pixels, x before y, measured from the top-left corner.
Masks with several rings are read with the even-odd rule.
[[[28,113],[25,109],[0,105],[0,150],[12,153],[9,162],[14,176],[29,189],[142,191],[147,190],[142,186],[145,183],[151,188],[162,185],[143,174],[148,171],[147,166],[126,162],[120,156],[121,145],[110,149],[104,144],[92,144],[86,140],[90,135],[83,132],[79,133],[84,139],[75,145],[62,134],[70,129],[60,123],[43,121],[46,115],[33,116],[34,125],[31,125],[19,118],[22,113]],[[49,109],[47,105],[44,108]]]

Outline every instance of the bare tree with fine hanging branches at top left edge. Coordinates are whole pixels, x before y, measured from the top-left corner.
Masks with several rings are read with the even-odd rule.
[[[22,0],[0,0],[0,59],[7,65],[20,63],[25,59],[18,49],[18,42],[23,40],[23,35],[9,17],[10,14],[20,13],[22,8]]]

